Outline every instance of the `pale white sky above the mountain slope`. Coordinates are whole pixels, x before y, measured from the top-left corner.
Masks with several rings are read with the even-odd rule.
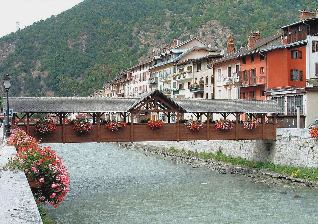
[[[84,0],[0,0],[0,37],[72,8]]]

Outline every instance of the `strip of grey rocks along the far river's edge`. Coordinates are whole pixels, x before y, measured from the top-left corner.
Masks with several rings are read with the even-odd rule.
[[[200,156],[191,154],[187,156],[183,153],[166,152],[159,148],[146,148],[142,146],[117,143],[122,148],[138,150],[158,155],[158,158],[168,159],[174,163],[186,163],[193,168],[205,167],[218,173],[231,173],[234,175],[242,175],[248,177],[253,183],[263,184],[283,184],[284,187],[294,185],[294,188],[302,188],[306,186],[318,187],[318,182],[306,180],[302,178],[294,178],[287,174],[279,174],[269,170],[260,170],[259,168],[252,168],[243,165],[233,165],[223,161],[216,161],[214,159],[202,159]]]

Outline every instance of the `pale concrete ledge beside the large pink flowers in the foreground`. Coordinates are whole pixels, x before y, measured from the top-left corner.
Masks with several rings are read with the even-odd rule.
[[[0,145],[0,168],[17,153],[12,146]],[[0,224],[43,224],[23,171],[0,172]]]

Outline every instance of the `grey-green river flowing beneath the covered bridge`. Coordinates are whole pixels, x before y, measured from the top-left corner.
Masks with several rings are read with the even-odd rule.
[[[318,223],[316,188],[254,184],[113,143],[51,146],[65,160],[71,185],[47,213],[65,224]]]

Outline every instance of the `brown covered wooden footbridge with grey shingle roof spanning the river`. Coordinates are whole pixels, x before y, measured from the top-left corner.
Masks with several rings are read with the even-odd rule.
[[[280,106],[271,100],[231,100],[231,99],[171,99],[159,90],[146,91],[139,98],[10,98],[13,109],[13,126],[23,128],[29,135],[41,143],[69,142],[116,142],[116,141],[189,141],[189,140],[239,140],[260,139],[276,140],[278,113],[283,113]],[[4,108],[5,109],[5,108]],[[72,124],[66,124],[69,113],[88,113],[99,121],[105,112],[121,114],[127,126],[118,131],[109,131],[103,124],[93,123],[93,129],[86,134],[77,134]],[[134,123],[138,113],[163,112],[168,123],[162,128],[151,130],[147,124]],[[30,118],[35,113],[55,113],[60,118],[57,129],[47,135],[37,134]],[[229,130],[217,130],[207,119],[206,125],[196,132],[180,124],[183,113],[193,113],[197,119],[201,115],[210,118],[219,113],[224,118],[234,115],[235,124]],[[22,114],[22,116],[21,116]],[[258,119],[260,124],[253,130],[246,130],[239,123],[241,114]],[[170,117],[176,116],[176,123],[170,123]],[[25,119],[25,120],[24,120]],[[129,123],[130,122],[130,123]],[[22,124],[19,124],[22,123]]]

